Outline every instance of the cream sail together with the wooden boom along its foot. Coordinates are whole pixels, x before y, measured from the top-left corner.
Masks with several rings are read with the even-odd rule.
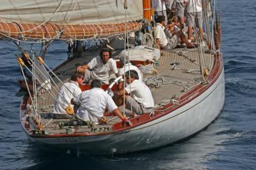
[[[143,18],[139,0],[3,0],[0,38],[87,39],[140,29]]]

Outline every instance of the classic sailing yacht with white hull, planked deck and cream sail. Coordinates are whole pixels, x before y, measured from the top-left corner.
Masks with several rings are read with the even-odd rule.
[[[156,48],[152,30],[151,0],[3,0],[1,4],[0,39],[13,41],[25,56],[21,58],[18,54],[20,69],[33,76],[34,90],[28,90],[20,104],[20,123],[35,143],[79,148],[92,154],[147,150],[195,135],[211,124],[223,108],[225,77],[220,18],[212,13],[211,6],[215,4],[209,0],[204,6],[205,39],[209,46],[201,45],[195,29],[198,48],[180,47],[161,52]],[[53,41],[67,42],[70,56],[50,69],[44,57]],[[31,52],[26,52],[22,43],[31,44]],[[41,45],[40,52],[33,51],[33,45]],[[68,81],[77,64],[98,55],[102,46],[114,51],[117,66],[118,59],[127,55],[143,71],[143,81],[154,98],[154,111],[127,117],[132,125],[124,124],[113,113],[105,113],[108,121],[104,124],[81,122],[73,111],[72,118],[52,117],[61,85]],[[45,87],[45,82],[38,78],[40,71],[35,61],[47,73],[43,75],[49,78],[47,88],[36,88],[36,83]],[[89,85],[80,88],[90,89]],[[116,81],[102,85],[102,89],[115,92]]]

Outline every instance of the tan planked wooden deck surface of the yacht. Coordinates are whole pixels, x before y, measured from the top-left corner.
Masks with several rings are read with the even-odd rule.
[[[175,48],[175,50],[164,51],[159,59],[159,65],[154,67],[157,73],[143,75],[144,80],[147,80],[146,83],[152,91],[155,108],[179,101],[179,98],[188,90],[201,83],[200,65],[208,67],[211,71],[214,64],[214,56],[212,54],[204,53],[202,55],[203,60],[200,60],[200,53],[195,49]],[[61,80],[67,81],[70,73],[76,69],[78,64],[83,64],[86,60],[92,59],[92,57],[93,53],[86,53],[83,57],[74,58],[72,62],[67,62],[58,67],[55,73],[58,74]],[[58,86],[60,85],[58,83]],[[44,114],[51,113],[53,102],[54,99],[49,92],[41,94],[38,98],[38,111]],[[88,128],[86,125],[76,126],[72,129],[72,132],[111,131],[112,125],[121,121],[118,117],[108,116],[107,118],[109,120],[108,125],[97,125],[94,129]],[[42,118],[42,123],[45,125],[44,130],[49,134],[66,132],[67,128],[56,129],[56,124],[60,124],[60,122],[68,122],[68,119]]]

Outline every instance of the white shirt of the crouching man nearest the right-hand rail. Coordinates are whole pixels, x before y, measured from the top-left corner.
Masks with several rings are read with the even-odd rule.
[[[143,83],[141,80],[134,80],[131,84],[125,87],[125,91],[131,94],[131,97],[135,99],[138,103],[140,103],[145,108],[153,108],[154,107],[154,99],[150,92],[150,89]]]

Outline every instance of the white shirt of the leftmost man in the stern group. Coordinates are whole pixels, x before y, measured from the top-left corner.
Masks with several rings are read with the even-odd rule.
[[[67,108],[68,106],[67,103],[70,104],[71,99],[81,94],[81,92],[82,90],[79,88],[79,84],[76,81],[70,81],[70,82],[64,83],[64,85],[61,86],[60,92],[57,96],[57,99],[60,103],[58,103],[57,101],[54,101],[52,113],[60,113],[60,114],[67,113],[65,111],[65,108]],[[74,107],[73,104],[70,104],[70,106]]]

